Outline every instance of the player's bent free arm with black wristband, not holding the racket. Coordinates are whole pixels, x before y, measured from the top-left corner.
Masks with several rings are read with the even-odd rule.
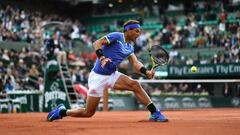
[[[93,48],[99,58],[99,60],[101,61],[101,66],[104,67],[106,65],[107,62],[111,62],[111,59],[106,58],[102,52],[102,46],[103,45],[109,45],[109,41],[107,39],[106,36],[96,40],[93,43]]]

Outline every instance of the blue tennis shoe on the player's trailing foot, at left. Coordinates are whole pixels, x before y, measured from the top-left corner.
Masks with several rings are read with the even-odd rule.
[[[51,112],[48,113],[47,120],[53,121],[57,119],[62,119],[62,116],[60,115],[61,110],[66,110],[66,107],[64,104],[59,104],[56,108],[54,108]]]

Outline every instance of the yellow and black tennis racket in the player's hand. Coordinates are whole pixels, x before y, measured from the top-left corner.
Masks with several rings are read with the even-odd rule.
[[[152,62],[152,69],[157,68],[158,66],[163,66],[168,64],[169,55],[168,52],[162,48],[160,45],[151,45],[149,44],[148,48],[150,60]]]

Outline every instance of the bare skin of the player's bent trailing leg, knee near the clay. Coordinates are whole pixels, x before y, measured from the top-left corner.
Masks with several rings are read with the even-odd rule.
[[[100,97],[88,96],[86,108],[67,110],[67,116],[71,117],[92,117],[97,111]]]

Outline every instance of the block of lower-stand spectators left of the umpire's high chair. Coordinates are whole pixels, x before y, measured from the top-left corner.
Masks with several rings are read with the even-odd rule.
[[[25,47],[21,51],[0,49],[0,55],[0,85],[3,93],[28,89],[28,86],[34,89],[42,87],[45,59],[37,50]]]

